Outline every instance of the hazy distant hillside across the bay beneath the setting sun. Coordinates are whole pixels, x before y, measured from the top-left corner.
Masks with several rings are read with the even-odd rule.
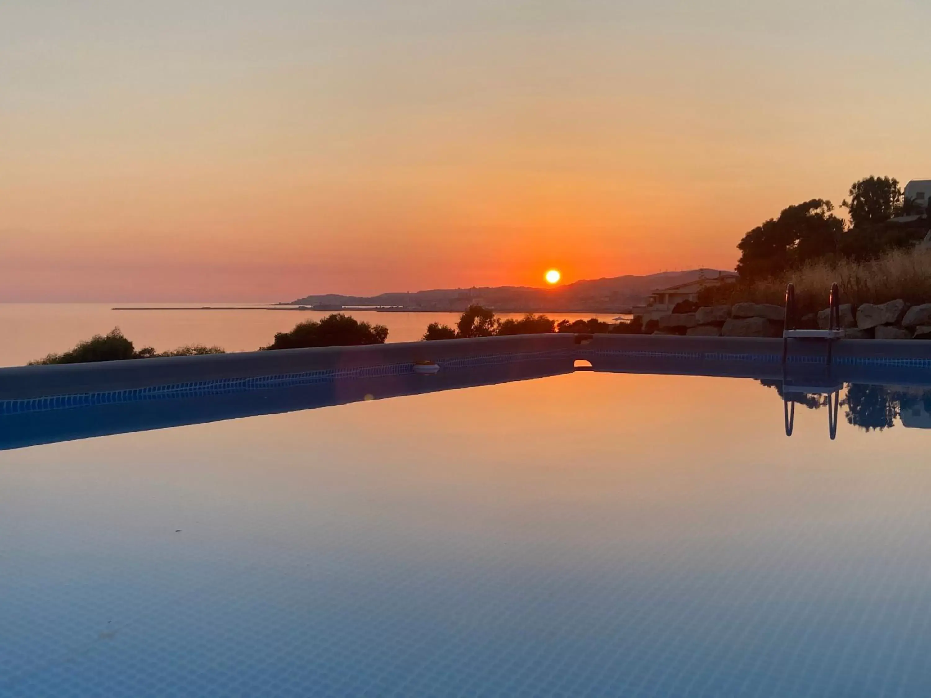
[[[498,286],[472,289],[433,289],[413,293],[382,293],[377,296],[344,296],[323,294],[304,296],[293,305],[314,305],[325,308],[340,306],[403,307],[414,311],[460,311],[478,302],[499,312],[619,312],[627,306],[641,303],[655,289],[695,281],[701,275],[713,278],[717,269],[691,269],[684,272],[663,272],[645,276],[614,276],[587,279],[555,289],[534,289],[528,286]],[[733,274],[733,272],[724,272]]]

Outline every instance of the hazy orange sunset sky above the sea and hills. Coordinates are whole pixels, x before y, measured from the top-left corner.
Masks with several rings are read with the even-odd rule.
[[[747,5],[7,0],[0,302],[733,268],[931,177],[931,6]]]

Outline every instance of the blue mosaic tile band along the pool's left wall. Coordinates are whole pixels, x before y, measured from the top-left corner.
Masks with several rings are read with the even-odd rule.
[[[533,352],[523,354],[498,354],[469,356],[464,359],[439,361],[441,369],[466,369],[476,366],[506,364],[515,361],[533,361],[541,359],[569,358],[571,350]],[[358,380],[364,378],[384,378],[386,376],[407,375],[413,372],[413,363],[385,364],[359,369],[311,370],[300,373],[257,376],[253,378],[223,378],[210,381],[191,381],[186,383],[169,383],[143,388],[110,390],[100,393],[78,393],[34,397],[28,399],[0,400],[0,415],[25,414],[28,412],[47,412],[54,409],[76,409],[95,405],[118,405],[132,402],[165,400],[183,397],[204,397],[246,393],[255,390],[291,388],[333,381]]]

